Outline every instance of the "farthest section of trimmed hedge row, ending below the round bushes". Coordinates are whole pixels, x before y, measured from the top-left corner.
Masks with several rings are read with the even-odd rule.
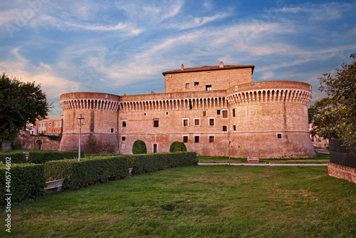
[[[146,155],[126,155],[132,175],[165,170],[169,167],[197,165],[196,152],[152,153]]]

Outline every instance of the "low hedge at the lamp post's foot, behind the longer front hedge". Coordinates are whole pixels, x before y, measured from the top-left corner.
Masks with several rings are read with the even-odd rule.
[[[31,151],[28,154],[28,162],[33,162],[35,164],[44,164],[45,162],[51,160],[64,160],[64,159],[74,159],[78,157],[78,150],[71,150],[71,151],[51,151],[51,152],[39,152],[39,151]],[[80,152],[80,157],[84,157],[84,151]]]

